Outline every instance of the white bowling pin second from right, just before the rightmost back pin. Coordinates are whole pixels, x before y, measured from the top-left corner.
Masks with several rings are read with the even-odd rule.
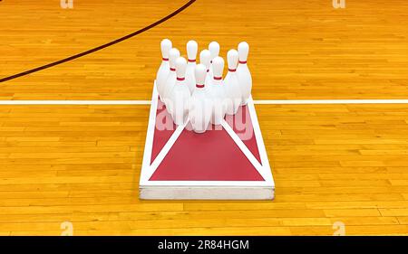
[[[242,92],[239,87],[237,77],[238,52],[236,50],[229,50],[227,53],[228,73],[224,79],[225,93],[227,96],[227,111],[228,115],[237,114],[239,105],[242,100]]]

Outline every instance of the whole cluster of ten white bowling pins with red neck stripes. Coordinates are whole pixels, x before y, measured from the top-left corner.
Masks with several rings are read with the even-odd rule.
[[[195,41],[187,42],[187,61],[169,39],[162,40],[160,48],[162,61],[156,87],[176,125],[189,119],[192,129],[203,133],[210,124],[220,125],[226,114],[235,115],[240,106],[247,104],[252,89],[247,42],[240,42],[238,51],[228,51],[228,73],[224,79],[218,42],[210,42],[209,49],[199,53],[199,64]]]

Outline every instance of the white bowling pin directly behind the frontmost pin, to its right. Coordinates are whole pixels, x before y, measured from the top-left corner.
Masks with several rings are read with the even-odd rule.
[[[220,125],[225,117],[226,94],[224,82],[222,81],[222,71],[224,71],[224,60],[216,57],[212,60],[214,77],[209,84],[209,97],[212,99],[212,112],[210,122],[213,125]]]

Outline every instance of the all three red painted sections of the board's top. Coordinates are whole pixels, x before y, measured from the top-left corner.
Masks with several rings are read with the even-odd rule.
[[[151,162],[168,142],[177,126],[170,124],[171,118],[159,101],[153,136]],[[261,162],[248,108],[241,107],[235,116],[227,116],[226,121]],[[163,128],[167,123],[167,128]],[[219,126],[211,126],[203,134],[186,127],[177,138],[169,153],[151,175],[151,181],[264,181],[257,169],[238,145]]]

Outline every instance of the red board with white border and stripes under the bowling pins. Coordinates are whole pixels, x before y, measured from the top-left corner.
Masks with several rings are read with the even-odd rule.
[[[252,98],[202,134],[176,126],[153,87],[139,185],[146,200],[272,200],[275,183]]]

